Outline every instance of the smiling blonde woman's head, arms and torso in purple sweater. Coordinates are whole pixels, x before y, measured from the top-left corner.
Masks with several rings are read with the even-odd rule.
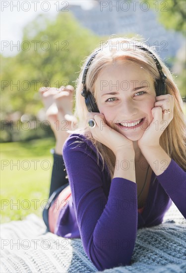
[[[116,38],[83,65],[74,115],[78,130],[58,156],[68,181],[56,183],[65,171],[55,181],[54,168],[45,222],[81,238],[98,270],[129,265],[138,228],[162,223],[172,201],[186,217],[180,93],[152,49]]]

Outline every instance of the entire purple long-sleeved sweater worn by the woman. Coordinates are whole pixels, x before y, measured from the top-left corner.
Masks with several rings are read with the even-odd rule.
[[[172,201],[186,217],[186,173],[174,160],[163,174],[156,177],[152,173],[140,214],[136,183],[124,178],[111,180],[107,168],[98,166],[95,148],[84,136],[69,136],[63,146],[63,159],[71,197],[60,211],[55,233],[81,238],[98,270],[129,265],[137,229],[162,223]]]

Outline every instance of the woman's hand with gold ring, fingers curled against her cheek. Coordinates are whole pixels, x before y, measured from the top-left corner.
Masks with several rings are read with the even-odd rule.
[[[166,114],[164,110],[170,110],[170,113]],[[159,146],[160,136],[174,117],[173,111],[174,97],[172,95],[166,94],[156,97],[154,108],[152,108],[153,120],[145,130],[143,136],[137,141],[141,150]]]

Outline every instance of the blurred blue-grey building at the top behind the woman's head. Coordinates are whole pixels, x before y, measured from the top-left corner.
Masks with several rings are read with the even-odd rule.
[[[76,19],[95,34],[138,34],[148,40],[150,46],[156,47],[166,63],[170,63],[169,58],[177,54],[185,40],[182,34],[166,30],[158,22],[158,10],[163,8],[166,12],[166,7],[158,5],[156,1],[156,9],[150,9],[145,1],[140,0],[94,0],[94,5],[87,10],[82,9],[80,5],[69,6]]]

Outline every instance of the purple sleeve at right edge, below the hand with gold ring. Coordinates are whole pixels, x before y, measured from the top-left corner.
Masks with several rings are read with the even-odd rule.
[[[186,218],[186,172],[172,159],[168,168],[157,179]]]

